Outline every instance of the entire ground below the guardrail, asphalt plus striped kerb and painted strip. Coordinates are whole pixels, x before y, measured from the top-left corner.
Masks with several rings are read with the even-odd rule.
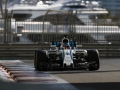
[[[120,59],[100,59],[97,71],[35,71],[33,62],[0,60],[0,90],[120,90]]]

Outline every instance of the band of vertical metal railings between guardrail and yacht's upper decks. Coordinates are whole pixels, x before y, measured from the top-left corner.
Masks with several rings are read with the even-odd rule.
[[[0,43],[38,44],[41,42],[61,41],[63,35],[79,44],[119,44],[119,20],[112,22],[109,19],[82,19],[74,16],[51,19],[43,22],[38,19],[8,19],[6,26],[0,19]],[[64,16],[62,16],[64,17]]]

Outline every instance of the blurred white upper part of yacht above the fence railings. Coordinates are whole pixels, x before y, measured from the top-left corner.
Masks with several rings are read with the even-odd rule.
[[[30,0],[29,0],[30,1]],[[78,10],[77,18],[89,18],[90,14],[106,14],[106,9],[99,8],[97,2],[84,2],[83,0],[51,0],[39,1],[31,4],[26,3],[26,0],[15,0],[8,5],[8,14],[13,10],[14,17],[21,18],[38,18],[44,15],[47,10]],[[13,5],[12,5],[13,4]]]

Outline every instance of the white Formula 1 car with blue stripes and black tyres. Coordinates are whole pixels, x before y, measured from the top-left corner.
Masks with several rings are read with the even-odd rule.
[[[56,49],[36,50],[34,67],[36,70],[53,68],[85,68],[90,71],[100,67],[98,50],[78,49],[75,41],[69,41],[65,36],[62,42],[52,42],[51,47]]]

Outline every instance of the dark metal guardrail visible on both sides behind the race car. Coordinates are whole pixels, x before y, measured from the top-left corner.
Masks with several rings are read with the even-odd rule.
[[[50,49],[49,44],[0,44],[0,59],[34,59],[34,51]],[[82,44],[81,49],[98,49],[100,58],[119,58],[118,44]]]

